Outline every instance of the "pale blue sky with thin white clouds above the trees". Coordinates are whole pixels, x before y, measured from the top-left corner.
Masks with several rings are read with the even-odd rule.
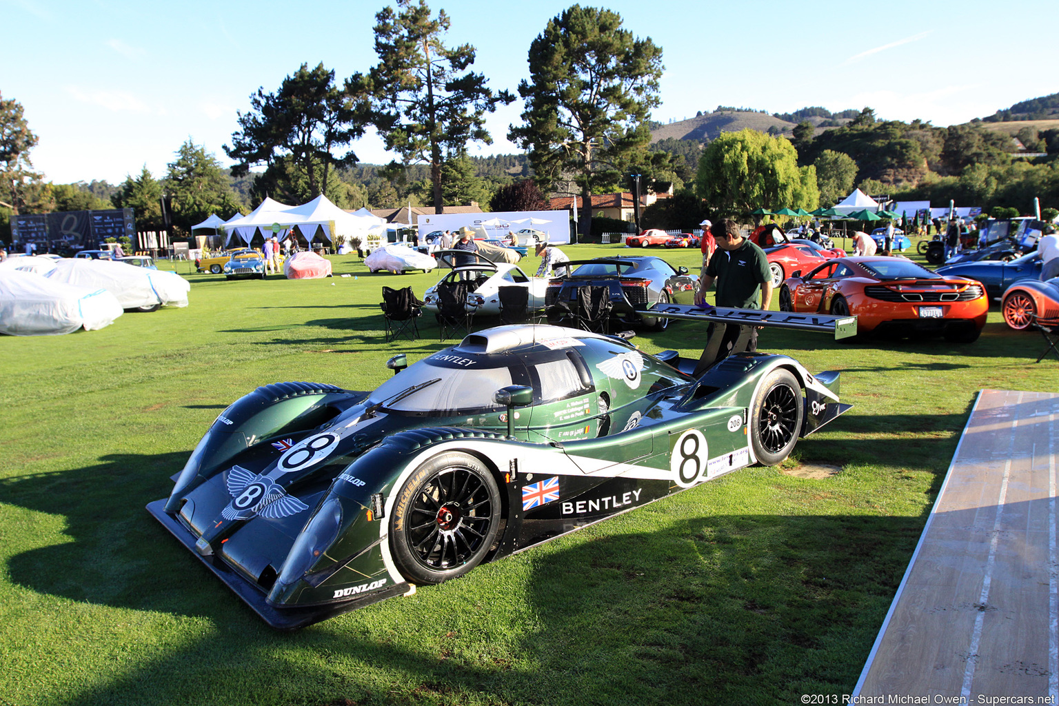
[[[570,2],[434,0],[452,25],[446,43],[478,49],[474,69],[515,92],[526,52]],[[584,4],[593,4],[586,2]],[[663,49],[661,122],[718,105],[786,112],[872,106],[883,119],[966,122],[1059,91],[1053,50],[1035,37],[1055,4],[742,2],[595,3]],[[56,183],[112,183],[146,165],[165,171],[191,138],[223,164],[236,111],[259,87],[279,88],[307,62],[338,77],[376,62],[372,28],[383,0],[0,0],[0,93],[25,109],[40,142],[31,159]],[[506,142],[521,102],[490,116],[495,143],[472,153],[518,151]],[[361,161],[389,157],[376,137]]]

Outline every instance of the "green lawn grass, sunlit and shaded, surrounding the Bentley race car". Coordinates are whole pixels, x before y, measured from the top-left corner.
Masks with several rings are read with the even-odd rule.
[[[661,254],[697,269],[695,251]],[[856,405],[783,467],[744,469],[457,581],[279,633],[144,505],[255,386],[370,390],[394,352],[414,361],[446,345],[432,322],[414,343],[382,341],[380,286],[421,295],[436,273],[373,275],[353,257],[333,260],[330,279],[189,274],[185,309],[0,338],[0,705],[640,706],[848,693],[976,391],[1059,388],[1055,360],[1033,364],[1040,336],[1009,331],[997,311],[963,346],[766,330],[762,349],[842,370],[842,398]],[[681,322],[634,342],[698,356],[703,333]],[[841,471],[795,475],[808,463]]]

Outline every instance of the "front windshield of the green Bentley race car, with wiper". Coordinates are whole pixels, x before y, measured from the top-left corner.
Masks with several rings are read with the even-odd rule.
[[[432,380],[436,382],[403,395],[405,391]],[[511,373],[506,367],[442,367],[420,361],[379,385],[369,397],[369,402],[394,412],[447,417],[504,409],[493,401],[492,396],[510,384]],[[394,399],[391,401],[391,398]]]

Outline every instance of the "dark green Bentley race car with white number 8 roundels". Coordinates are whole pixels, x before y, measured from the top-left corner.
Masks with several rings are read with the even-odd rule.
[[[838,331],[834,316],[765,313]],[[698,362],[520,325],[408,367],[395,356],[371,393],[265,385],[217,417],[147,508],[269,624],[293,629],[778,464],[849,406],[838,373],[787,356],[740,352],[693,377]]]

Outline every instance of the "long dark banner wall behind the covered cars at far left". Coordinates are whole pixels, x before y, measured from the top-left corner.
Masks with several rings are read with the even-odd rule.
[[[21,247],[36,243],[38,253],[66,254],[95,250],[107,238],[125,236],[136,242],[136,219],[132,209],[18,215],[12,217],[12,236]]]

